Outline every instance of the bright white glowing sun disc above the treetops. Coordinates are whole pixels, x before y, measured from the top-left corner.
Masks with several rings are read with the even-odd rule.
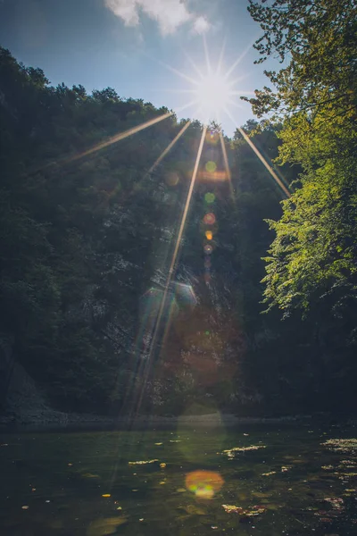
[[[233,96],[232,82],[218,72],[209,73],[197,81],[194,93],[204,121],[218,121]]]

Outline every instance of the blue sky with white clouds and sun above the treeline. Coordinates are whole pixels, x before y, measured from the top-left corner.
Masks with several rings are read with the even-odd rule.
[[[25,65],[43,69],[53,85],[81,84],[88,92],[109,86],[123,98],[166,106],[179,119],[203,121],[214,100],[221,103],[219,119],[231,136],[236,122],[242,126],[253,118],[240,94],[266,85],[263,70],[274,63],[253,63],[261,29],[247,5],[248,0],[0,0],[0,45]],[[238,92],[229,96],[233,104],[226,103],[226,79],[229,90]],[[194,100],[198,104],[182,109]]]

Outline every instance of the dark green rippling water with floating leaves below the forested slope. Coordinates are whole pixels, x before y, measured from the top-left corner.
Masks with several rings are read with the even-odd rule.
[[[0,534],[355,535],[356,436],[311,423],[3,434]],[[204,470],[221,487],[187,490]]]

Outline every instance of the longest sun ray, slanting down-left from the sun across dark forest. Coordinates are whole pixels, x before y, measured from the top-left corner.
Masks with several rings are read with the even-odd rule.
[[[200,161],[201,161],[201,156],[202,156],[202,152],[203,152],[203,144],[204,144],[204,139],[206,137],[206,133],[207,133],[207,127],[205,126],[205,127],[203,127],[201,141],[200,141],[200,145],[199,145],[198,151],[197,151],[197,156],[196,156],[196,159],[195,159],[195,168],[194,168],[194,172],[192,173],[192,179],[191,179],[190,187],[189,187],[188,193],[187,193],[186,204],[185,204],[184,212],[182,214],[181,222],[180,222],[180,225],[179,225],[178,238],[176,239],[176,244],[175,244],[175,248],[174,248],[174,251],[173,251],[173,254],[172,254],[172,259],[171,259],[171,263],[170,263],[170,268],[169,268],[169,272],[168,272],[168,276],[167,276],[165,289],[164,289],[163,294],[162,294],[161,306],[160,306],[159,314],[157,315],[157,319],[156,319],[156,325],[155,325],[153,339],[152,339],[151,345],[150,345],[149,355],[147,356],[146,363],[145,363],[144,379],[143,379],[143,385],[142,385],[142,388],[141,388],[140,397],[139,397],[138,403],[137,403],[137,411],[138,411],[139,407],[141,406],[142,398],[144,396],[144,391],[145,391],[145,385],[146,385],[146,382],[147,382],[148,374],[150,372],[150,367],[152,365],[151,361],[152,361],[154,348],[156,346],[156,339],[157,339],[158,332],[159,332],[159,329],[160,329],[160,326],[161,326],[161,323],[162,323],[162,313],[163,313],[163,309],[164,309],[164,306],[165,306],[165,303],[166,303],[166,298],[167,298],[169,287],[170,287],[170,281],[172,279],[172,276],[173,276],[173,273],[174,273],[174,270],[175,270],[175,266],[176,266],[176,261],[177,261],[177,257],[178,257],[178,253],[179,253],[179,247],[180,247],[180,244],[181,244],[183,231],[185,229],[185,225],[186,225],[186,221],[187,221],[188,209],[189,209],[189,206],[191,204],[191,198],[192,198],[192,194],[193,194],[193,191],[194,191],[194,188],[195,188],[195,180],[196,180],[196,177],[197,177],[198,167],[199,167],[199,164],[200,164]]]

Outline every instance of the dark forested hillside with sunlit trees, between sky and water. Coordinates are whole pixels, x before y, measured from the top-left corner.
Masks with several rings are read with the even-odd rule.
[[[0,48],[2,413],[19,367],[64,412],[353,413],[355,2],[248,9],[281,68],[256,120],[208,126],[174,266],[205,127]]]

